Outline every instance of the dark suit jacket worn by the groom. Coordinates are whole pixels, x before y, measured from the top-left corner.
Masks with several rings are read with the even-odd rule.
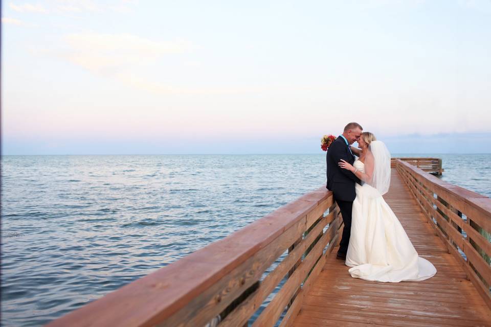
[[[354,155],[349,151],[343,137],[338,136],[327,150],[327,184],[326,188],[332,191],[334,199],[342,201],[353,201],[356,197],[354,183],[360,183],[360,179],[352,172],[338,166],[341,159],[346,160],[351,165],[354,162]]]

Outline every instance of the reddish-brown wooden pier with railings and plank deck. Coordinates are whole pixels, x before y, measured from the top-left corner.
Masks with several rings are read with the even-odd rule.
[[[400,159],[384,198],[434,277],[352,278],[320,188],[49,325],[491,326],[491,199]]]

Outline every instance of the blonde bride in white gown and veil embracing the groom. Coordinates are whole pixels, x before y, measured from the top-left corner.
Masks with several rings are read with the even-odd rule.
[[[420,258],[406,231],[382,195],[389,191],[390,153],[370,132],[362,133],[360,158],[353,165],[341,159],[339,166],[362,180],[356,184],[351,237],[346,265],[352,277],[367,281],[423,281],[436,269]]]

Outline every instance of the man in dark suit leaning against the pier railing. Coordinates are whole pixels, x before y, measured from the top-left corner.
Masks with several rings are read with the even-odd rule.
[[[344,128],[343,134],[331,143],[326,154],[326,188],[332,191],[344,223],[343,236],[341,237],[338,255],[336,256],[337,259],[341,260],[346,260],[346,252],[348,252],[349,236],[351,233],[351,208],[353,207],[353,200],[356,197],[354,184],[360,183],[360,179],[349,170],[340,168],[338,162],[343,159],[353,165],[354,154],[359,155],[359,151],[355,148],[351,149],[350,145],[358,141],[362,131],[363,128],[360,124],[349,123]]]

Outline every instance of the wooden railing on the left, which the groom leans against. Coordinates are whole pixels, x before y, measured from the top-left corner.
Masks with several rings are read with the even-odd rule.
[[[48,325],[288,326],[341,225],[321,188]]]

